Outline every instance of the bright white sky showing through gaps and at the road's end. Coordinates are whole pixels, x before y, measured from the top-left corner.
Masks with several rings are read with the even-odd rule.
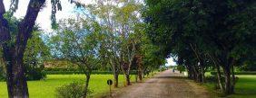
[[[18,4],[18,10],[15,12],[15,17],[17,18],[23,18],[26,13],[27,4],[29,3],[29,0],[22,0],[19,1]],[[56,13],[56,19],[67,19],[70,17],[76,17],[76,14],[74,13],[74,4],[70,4],[68,0],[61,0],[62,3],[62,11],[58,11]],[[93,0],[84,0],[84,4],[91,4],[93,3]],[[4,0],[5,9],[9,9],[10,0]],[[41,10],[41,12],[38,13],[38,17],[36,19],[36,23],[39,24],[42,30],[44,30],[45,33],[51,33],[53,30],[51,29],[51,0],[46,0],[45,7]],[[167,64],[165,66],[174,66],[176,65],[175,62],[173,62],[173,58],[166,58]]]

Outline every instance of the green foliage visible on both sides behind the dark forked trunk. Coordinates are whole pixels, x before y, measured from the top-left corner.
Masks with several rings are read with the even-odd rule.
[[[15,38],[17,35],[17,24],[20,20],[12,16],[11,13],[5,13],[5,19],[9,23],[12,38]],[[42,73],[44,60],[50,57],[50,51],[42,40],[42,31],[39,30],[37,25],[34,26],[33,30],[32,36],[27,40],[23,58],[26,67],[25,76],[27,80],[39,80],[44,78],[45,74]],[[15,46],[15,41],[15,39],[12,39],[8,44],[10,46]],[[1,50],[1,56],[2,52],[3,51]],[[5,69],[4,60],[1,60],[1,67]],[[1,73],[1,75],[3,75],[1,77],[5,78],[5,71],[1,71]]]

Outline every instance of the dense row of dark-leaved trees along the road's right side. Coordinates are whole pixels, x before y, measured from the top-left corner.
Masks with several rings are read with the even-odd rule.
[[[147,34],[162,56],[176,57],[189,77],[200,83],[205,82],[205,71],[215,68],[222,93],[234,93],[234,67],[255,62],[256,2],[146,0],[146,4]]]

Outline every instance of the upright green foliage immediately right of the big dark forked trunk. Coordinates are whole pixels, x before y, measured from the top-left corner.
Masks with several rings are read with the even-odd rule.
[[[24,64],[27,80],[40,80],[46,74],[43,73],[44,60],[50,58],[49,48],[44,44],[40,31],[33,31],[32,37],[27,40],[24,53]]]

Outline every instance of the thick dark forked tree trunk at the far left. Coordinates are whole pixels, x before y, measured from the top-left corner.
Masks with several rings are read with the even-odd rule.
[[[26,42],[31,36],[34,22],[37,14],[43,6],[45,0],[30,0],[25,18],[18,23],[18,34],[16,35],[15,44],[11,44],[11,34],[8,30],[8,22],[4,18],[5,5],[3,0],[0,2],[0,42],[3,48],[3,57],[6,62],[7,89],[9,98],[28,98],[28,89],[25,79],[25,67],[23,57]]]

